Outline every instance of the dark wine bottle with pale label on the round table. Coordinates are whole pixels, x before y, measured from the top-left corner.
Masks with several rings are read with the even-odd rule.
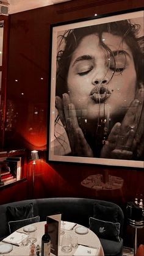
[[[41,256],[50,256],[51,237],[48,234],[48,224],[45,224],[45,234],[41,237]]]

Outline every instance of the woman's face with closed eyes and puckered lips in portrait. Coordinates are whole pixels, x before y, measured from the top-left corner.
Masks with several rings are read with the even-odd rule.
[[[135,96],[131,49],[117,35],[104,32],[102,38],[111,53],[101,46],[98,35],[87,35],[74,51],[68,71],[71,103],[86,112],[88,120],[123,114]]]

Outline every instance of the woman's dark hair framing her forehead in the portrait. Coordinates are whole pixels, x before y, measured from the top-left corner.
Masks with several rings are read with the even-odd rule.
[[[97,34],[99,43],[110,52],[110,49],[102,40],[103,32],[118,35],[122,41],[126,42],[134,58],[137,84],[143,82],[143,37],[137,37],[139,29],[139,24],[131,24],[129,20],[123,20],[65,31],[65,34],[60,35],[60,46],[64,41],[65,47],[64,49],[60,49],[57,54],[56,95],[62,97],[63,93],[68,92],[67,75],[71,56],[83,37],[90,34]]]

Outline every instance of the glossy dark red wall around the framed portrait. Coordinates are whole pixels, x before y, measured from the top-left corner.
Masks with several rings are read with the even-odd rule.
[[[47,109],[50,24],[91,17],[95,13],[112,13],[142,6],[143,0],[73,0],[10,15],[7,109],[13,121],[11,130],[7,123],[5,147],[44,150],[40,152],[44,161],[41,160],[35,170],[35,198],[101,198],[117,202],[124,208],[126,202],[134,200],[136,194],[144,194],[144,172],[140,169],[45,163],[46,130],[49,125]],[[34,114],[35,111],[38,111],[38,115]],[[29,169],[31,168],[29,164]],[[109,193],[84,188],[81,181],[93,174],[121,177],[124,186],[121,191]]]

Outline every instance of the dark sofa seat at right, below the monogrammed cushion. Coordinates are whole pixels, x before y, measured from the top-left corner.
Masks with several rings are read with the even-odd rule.
[[[103,246],[105,256],[122,256],[123,255],[123,239],[120,242],[99,238]]]

